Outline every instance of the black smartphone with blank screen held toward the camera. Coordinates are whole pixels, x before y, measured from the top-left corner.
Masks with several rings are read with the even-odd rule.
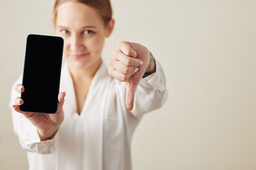
[[[60,37],[30,34],[26,41],[21,94],[21,111],[56,113],[64,40]]]

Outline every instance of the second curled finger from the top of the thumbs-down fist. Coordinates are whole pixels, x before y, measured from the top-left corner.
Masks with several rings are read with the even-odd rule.
[[[124,55],[124,53],[118,50],[115,50],[113,52],[112,60],[117,60],[122,62],[124,65],[133,66],[133,67],[139,67],[139,65],[143,64],[142,60]]]

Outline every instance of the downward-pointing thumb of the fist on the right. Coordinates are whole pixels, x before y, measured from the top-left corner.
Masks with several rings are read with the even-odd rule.
[[[135,91],[137,89],[138,84],[127,82],[126,86],[127,86],[127,89],[126,89],[126,95],[125,95],[125,104],[127,106],[127,109],[131,112],[134,107],[134,96],[135,96]]]

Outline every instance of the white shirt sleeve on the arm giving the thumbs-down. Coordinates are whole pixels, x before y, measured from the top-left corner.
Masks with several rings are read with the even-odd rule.
[[[164,105],[168,97],[164,69],[156,61],[156,72],[139,82],[134,98],[132,114],[140,119],[144,113],[154,111]]]

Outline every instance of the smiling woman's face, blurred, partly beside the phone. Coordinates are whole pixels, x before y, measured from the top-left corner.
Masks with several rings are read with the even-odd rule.
[[[105,38],[112,32],[113,21],[105,26],[95,9],[67,1],[57,8],[56,35],[64,39],[64,56],[69,67],[82,69],[98,66]]]

